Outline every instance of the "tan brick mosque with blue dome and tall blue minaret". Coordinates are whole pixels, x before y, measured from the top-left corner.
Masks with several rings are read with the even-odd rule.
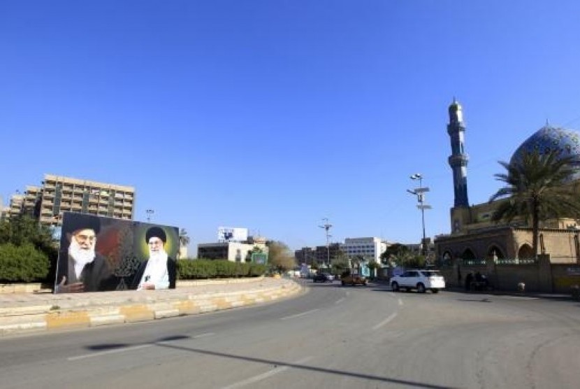
[[[462,274],[481,271],[491,276],[498,288],[512,289],[518,283],[529,290],[567,290],[580,283],[579,220],[558,218],[541,220],[539,255],[532,250],[532,227],[523,219],[496,223],[491,221],[500,201],[469,204],[465,124],[461,105],[454,99],[449,106],[447,133],[451,139],[449,166],[453,171],[454,206],[451,208],[451,233],[435,237],[435,255],[447,269],[450,283],[462,282]],[[580,134],[547,124],[516,149],[512,160],[523,150],[580,157]],[[580,183],[580,176],[574,177]],[[490,193],[491,197],[493,193]]]

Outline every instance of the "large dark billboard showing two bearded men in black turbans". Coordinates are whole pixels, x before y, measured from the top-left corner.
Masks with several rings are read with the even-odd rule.
[[[175,288],[178,251],[177,227],[65,212],[55,292]]]

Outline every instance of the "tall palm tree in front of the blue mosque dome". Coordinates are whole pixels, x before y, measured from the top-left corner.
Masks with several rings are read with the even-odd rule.
[[[514,218],[532,220],[532,251],[537,256],[539,221],[559,217],[580,217],[580,199],[572,185],[578,172],[577,157],[562,156],[558,150],[539,154],[522,153],[509,162],[499,162],[507,173],[495,179],[507,185],[489,199],[509,197],[498,204],[491,220],[510,222]]]

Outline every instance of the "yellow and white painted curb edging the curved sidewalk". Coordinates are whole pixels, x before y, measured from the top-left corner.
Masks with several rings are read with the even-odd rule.
[[[263,302],[273,302],[297,295],[303,290],[304,288],[298,283],[290,281],[275,288],[252,290],[252,287],[249,286],[248,290],[237,292],[204,294],[189,290],[177,296],[175,294],[158,295],[156,301],[152,301],[147,296],[144,301],[138,302],[126,300],[112,302],[112,304],[94,305],[94,300],[87,300],[85,306],[73,305],[63,308],[50,304],[16,306],[10,309],[0,309],[0,337],[30,332],[136,323],[222,311]],[[76,302],[76,304],[80,303]]]

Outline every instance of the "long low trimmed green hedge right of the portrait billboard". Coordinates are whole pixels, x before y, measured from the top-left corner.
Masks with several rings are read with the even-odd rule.
[[[266,265],[226,260],[177,260],[180,280],[262,276]]]

